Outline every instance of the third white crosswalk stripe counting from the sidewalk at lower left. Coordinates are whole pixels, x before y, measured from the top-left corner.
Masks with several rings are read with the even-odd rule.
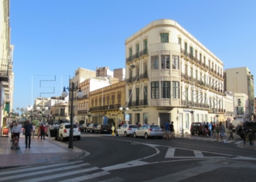
[[[56,174],[56,175],[45,175],[45,176],[40,177],[40,178],[32,178],[32,179],[29,179],[29,180],[18,181],[18,182],[45,181],[45,180],[50,180],[50,179],[54,179],[54,178],[64,177],[64,176],[67,176],[67,175],[76,175],[76,174],[81,174],[81,173],[83,174],[83,173],[86,173],[86,172],[89,172],[89,171],[92,171],[92,170],[99,170],[99,167],[90,167],[90,168],[83,169],[83,170],[74,170],[74,171],[70,171],[70,172],[59,173],[59,174]],[[53,170],[51,170],[51,172],[53,172]]]

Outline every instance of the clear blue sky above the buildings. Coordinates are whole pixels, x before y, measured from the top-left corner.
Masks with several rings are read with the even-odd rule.
[[[10,0],[13,108],[60,96],[76,68],[125,68],[125,40],[171,19],[224,63],[256,75],[255,0]]]

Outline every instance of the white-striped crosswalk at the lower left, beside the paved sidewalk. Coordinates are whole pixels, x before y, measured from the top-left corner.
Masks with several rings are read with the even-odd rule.
[[[107,170],[93,167],[82,160],[74,162],[60,162],[37,167],[26,167],[15,170],[2,170],[0,181],[36,182],[36,181],[86,181],[92,178],[108,176],[105,179],[112,181],[113,176]],[[100,180],[100,178],[99,178]],[[97,179],[98,181],[98,179]],[[115,181],[123,181],[122,178],[115,177]]]

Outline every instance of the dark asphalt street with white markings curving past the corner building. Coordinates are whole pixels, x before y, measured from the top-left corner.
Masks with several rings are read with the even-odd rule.
[[[239,148],[241,138],[224,143],[200,136],[173,141],[85,132],[81,136],[74,146],[89,151],[88,156],[20,167],[20,173],[15,170],[13,175],[4,170],[0,181],[255,181],[256,177],[255,151]]]

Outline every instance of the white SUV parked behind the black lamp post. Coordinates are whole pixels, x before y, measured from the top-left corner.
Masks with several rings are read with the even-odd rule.
[[[57,135],[55,136],[55,140],[58,141],[61,138],[61,141],[64,141],[66,138],[69,138],[69,130],[71,124],[68,122],[61,123],[57,129]],[[78,141],[81,138],[80,128],[77,124],[73,124],[73,138],[77,138]]]

